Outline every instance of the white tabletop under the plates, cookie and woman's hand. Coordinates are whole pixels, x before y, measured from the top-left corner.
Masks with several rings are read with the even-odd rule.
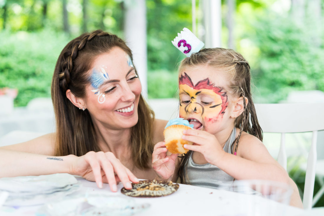
[[[77,177],[78,182],[82,184],[80,190],[75,192],[74,195],[86,193],[86,191],[105,193],[107,196],[116,195],[110,191],[109,185],[104,184],[102,189],[97,188],[94,182],[89,182],[81,177]],[[120,196],[120,189],[122,185],[118,185],[118,192]],[[72,194],[73,195],[73,194]],[[218,216],[244,216],[251,215],[255,209],[251,204],[251,196],[239,194],[226,190],[210,189],[203,187],[196,187],[191,185],[180,184],[178,191],[175,193],[158,198],[131,198],[136,203],[144,204],[149,203],[150,207],[136,215],[218,215]],[[262,216],[274,215],[274,210],[285,208],[284,215],[289,216],[306,216],[306,215],[320,215],[313,214],[310,211],[298,209],[291,206],[282,205],[272,200],[258,198],[260,206],[262,206]],[[31,216],[35,215],[40,206],[20,207],[14,209],[11,207],[2,207],[0,209],[1,216]],[[252,210],[252,211],[251,211]],[[253,213],[253,215],[256,215]],[[275,216],[279,216],[276,214]]]

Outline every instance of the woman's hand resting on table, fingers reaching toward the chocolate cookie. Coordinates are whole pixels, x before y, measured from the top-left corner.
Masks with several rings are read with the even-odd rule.
[[[121,181],[126,189],[132,188],[131,181],[139,182],[134,174],[122,165],[111,152],[91,151],[77,157],[70,167],[70,173],[82,176],[88,181],[95,181],[99,188],[102,188],[102,183],[109,183],[113,192],[117,191],[116,182]]]

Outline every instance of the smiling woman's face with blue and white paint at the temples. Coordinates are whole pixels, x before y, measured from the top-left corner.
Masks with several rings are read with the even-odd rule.
[[[93,121],[114,130],[133,127],[142,85],[127,53],[114,47],[99,55],[89,75],[85,107]]]

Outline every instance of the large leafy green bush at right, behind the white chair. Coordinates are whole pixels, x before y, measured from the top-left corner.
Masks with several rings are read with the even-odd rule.
[[[259,49],[252,66],[259,103],[277,103],[292,90],[324,91],[322,32],[318,38],[310,37],[315,26],[297,25],[290,16],[273,14],[259,17],[254,28],[247,37]]]

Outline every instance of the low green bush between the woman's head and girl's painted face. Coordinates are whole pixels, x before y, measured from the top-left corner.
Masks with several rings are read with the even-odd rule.
[[[177,97],[178,72],[151,71],[147,76],[149,98]]]

